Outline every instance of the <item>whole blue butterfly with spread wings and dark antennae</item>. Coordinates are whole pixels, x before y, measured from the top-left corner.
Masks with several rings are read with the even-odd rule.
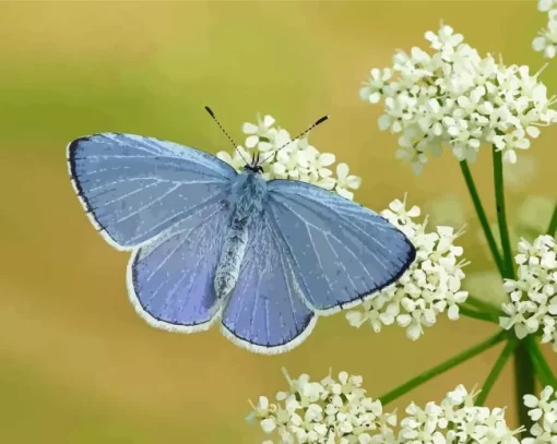
[[[410,240],[375,212],[306,182],[266,181],[262,164],[238,172],[202,151],[122,133],[68,145],[88,218],[131,252],[128,295],[150,325],[193,333],[221,321],[234,344],[280,353],[319,315],[372,297],[414,261]]]

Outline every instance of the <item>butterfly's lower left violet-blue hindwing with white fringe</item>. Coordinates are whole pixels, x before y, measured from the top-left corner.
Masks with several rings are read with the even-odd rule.
[[[134,251],[128,295],[150,325],[192,333],[218,317],[214,277],[229,217],[225,203],[208,204]]]

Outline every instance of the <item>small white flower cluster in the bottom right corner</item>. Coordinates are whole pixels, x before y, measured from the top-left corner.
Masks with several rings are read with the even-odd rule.
[[[524,405],[530,408],[528,415],[534,421],[530,429],[533,437],[522,440],[522,444],[542,444],[557,442],[557,394],[554,388],[546,386],[540,398],[534,395],[524,396]]]

